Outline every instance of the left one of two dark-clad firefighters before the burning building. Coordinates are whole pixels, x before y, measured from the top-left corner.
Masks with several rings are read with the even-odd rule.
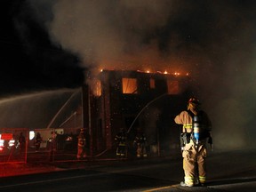
[[[125,132],[124,128],[120,129],[120,132],[116,134],[116,157],[124,158],[127,153],[127,132]]]

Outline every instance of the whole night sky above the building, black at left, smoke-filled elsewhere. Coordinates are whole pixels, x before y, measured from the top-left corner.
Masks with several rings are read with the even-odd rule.
[[[87,69],[189,73],[222,130],[215,137],[252,140],[256,1],[2,0],[1,9],[1,95],[80,86]]]

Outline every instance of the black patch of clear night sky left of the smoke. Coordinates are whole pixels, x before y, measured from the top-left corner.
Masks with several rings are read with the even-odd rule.
[[[83,84],[77,55],[52,44],[25,3],[0,3],[0,96]]]

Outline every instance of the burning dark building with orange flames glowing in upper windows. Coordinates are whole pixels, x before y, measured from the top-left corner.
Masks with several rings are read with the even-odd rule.
[[[130,141],[142,129],[155,152],[180,148],[173,117],[186,104],[189,81],[187,75],[166,72],[102,70],[83,87],[83,126],[91,134],[91,152],[113,148],[120,128]]]

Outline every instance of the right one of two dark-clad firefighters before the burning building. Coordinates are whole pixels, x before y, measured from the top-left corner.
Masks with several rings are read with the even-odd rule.
[[[147,138],[141,129],[138,129],[133,145],[136,148],[137,157],[147,157]]]

